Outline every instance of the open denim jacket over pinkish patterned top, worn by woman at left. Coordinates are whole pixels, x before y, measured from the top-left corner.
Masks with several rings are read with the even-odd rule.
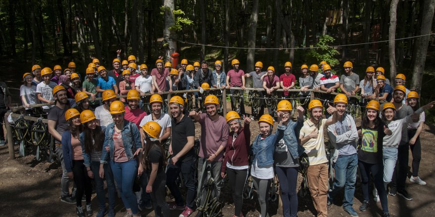
[[[106,134],[104,138],[103,151],[101,152],[100,163],[105,164],[108,160],[108,153],[110,153],[110,160],[113,160],[113,153],[115,152],[115,145],[113,144],[113,133],[115,123],[111,123],[106,127]],[[140,143],[140,134],[135,124],[132,124],[128,120],[124,120],[124,128],[121,131],[123,145],[126,151],[127,158],[133,159],[133,145],[135,149],[142,148]],[[109,146],[109,152],[104,151]]]

